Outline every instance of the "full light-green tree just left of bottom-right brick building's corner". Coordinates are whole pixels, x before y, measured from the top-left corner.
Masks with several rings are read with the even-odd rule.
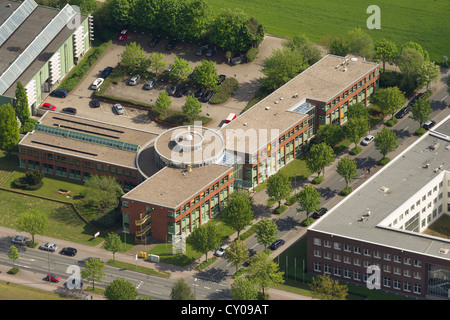
[[[273,261],[267,251],[255,254],[247,270],[249,279],[258,285],[263,296],[265,296],[266,288],[284,283],[284,272],[280,271],[278,264]]]

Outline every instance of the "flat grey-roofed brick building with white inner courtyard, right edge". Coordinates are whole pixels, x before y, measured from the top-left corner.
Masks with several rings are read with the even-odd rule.
[[[308,229],[308,272],[450,298],[450,240],[428,232],[449,213],[450,116]]]

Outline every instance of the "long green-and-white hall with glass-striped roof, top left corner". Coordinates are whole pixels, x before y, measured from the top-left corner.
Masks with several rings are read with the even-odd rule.
[[[90,48],[91,17],[70,5],[38,6],[34,0],[0,0],[0,105],[14,104],[17,82],[30,113]]]

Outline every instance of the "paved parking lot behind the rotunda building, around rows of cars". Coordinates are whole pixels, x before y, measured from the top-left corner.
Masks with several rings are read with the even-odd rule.
[[[45,102],[54,104],[57,107],[57,110],[61,110],[65,107],[75,107],[78,111],[77,116],[134,127],[155,133],[163,132],[166,128],[150,120],[146,111],[135,108],[125,108],[123,115],[116,115],[112,111],[111,104],[102,103],[100,108],[91,108],[90,106],[90,101],[93,96],[91,84],[95,79],[100,77],[104,68],[108,66],[116,67],[120,61],[120,55],[125,49],[125,45],[134,41],[139,43],[148,53],[151,53],[153,50],[163,53],[167,66],[174,61],[175,57],[187,60],[192,69],[201,64],[202,59],[211,59],[215,62],[218,74],[224,74],[227,77],[234,77],[238,80],[238,89],[227,102],[219,105],[202,103],[203,110],[201,114],[209,114],[209,117],[213,118],[213,121],[208,126],[217,129],[222,125],[223,120],[230,112],[239,114],[254,97],[260,86],[257,79],[263,76],[260,70],[262,69],[264,58],[269,56],[272,53],[272,50],[281,48],[281,43],[283,42],[283,39],[267,36],[260,46],[260,54],[255,61],[252,63],[230,66],[226,63],[224,52],[220,50],[213,57],[199,57],[195,55],[196,50],[199,48],[196,44],[178,43],[173,50],[169,51],[165,49],[165,45],[169,41],[168,39],[162,39],[159,44],[153,48],[148,44],[150,39],[150,35],[130,34],[125,41],[113,40],[112,45],[105,51],[96,64],[94,64],[75,90],[69,93],[67,98],[62,99],[49,96],[46,98]],[[136,86],[127,85],[126,80],[127,79],[124,79],[118,85],[112,85],[108,89],[107,94],[149,103],[150,99],[156,101],[159,92],[167,90],[167,87],[170,85],[168,82],[158,81],[151,90],[143,90],[142,88],[146,79],[141,78],[140,83]],[[188,94],[193,92],[194,89],[190,88]],[[171,97],[171,108],[181,110],[181,106],[184,104],[185,99],[185,96],[180,98]]]

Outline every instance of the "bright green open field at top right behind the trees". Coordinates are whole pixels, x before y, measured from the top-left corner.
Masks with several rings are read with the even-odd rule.
[[[263,23],[267,33],[292,38],[305,34],[320,42],[327,35],[343,35],[359,27],[374,40],[386,38],[401,45],[421,44],[435,61],[450,56],[450,4],[448,0],[208,0],[217,14],[240,8]],[[381,29],[369,30],[367,7],[381,11]]]

